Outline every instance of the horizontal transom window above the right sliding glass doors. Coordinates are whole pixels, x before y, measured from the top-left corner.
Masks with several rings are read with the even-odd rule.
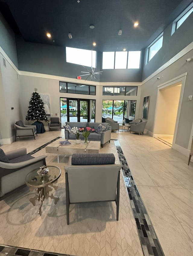
[[[137,86],[103,86],[103,95],[137,96]]]

